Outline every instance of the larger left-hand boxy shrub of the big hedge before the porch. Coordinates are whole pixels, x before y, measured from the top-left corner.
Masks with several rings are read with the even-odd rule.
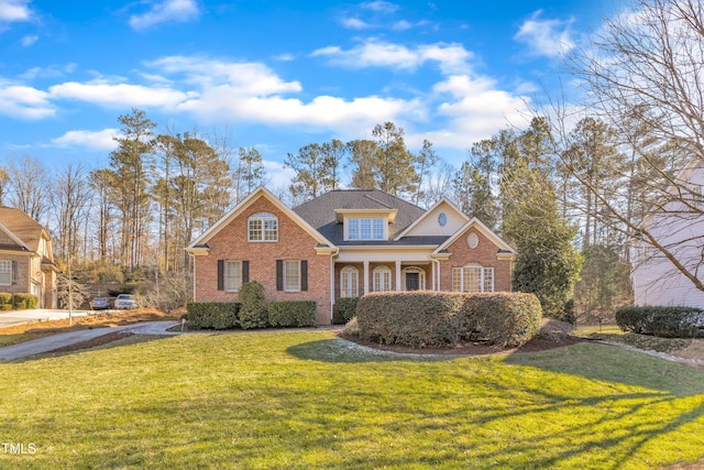
[[[441,348],[459,340],[459,295],[438,292],[380,292],[360,298],[360,338],[414,348]]]

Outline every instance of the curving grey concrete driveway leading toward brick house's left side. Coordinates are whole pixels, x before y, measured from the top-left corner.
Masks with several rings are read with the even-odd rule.
[[[136,335],[179,335],[179,332],[166,331],[168,328],[178,325],[178,321],[143,321],[120,327],[94,328],[79,331],[61,332],[44,338],[19,345],[0,348],[0,360],[12,361],[28,356],[41,354],[65,346],[88,341],[102,335],[116,331],[133,332]]]

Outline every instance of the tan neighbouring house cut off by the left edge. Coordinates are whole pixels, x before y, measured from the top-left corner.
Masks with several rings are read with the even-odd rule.
[[[56,273],[48,232],[20,209],[0,207],[0,292],[29,293],[56,308]]]

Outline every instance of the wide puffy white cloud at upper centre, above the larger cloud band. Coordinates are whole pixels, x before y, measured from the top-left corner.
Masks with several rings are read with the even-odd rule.
[[[328,57],[333,65],[349,68],[389,67],[414,70],[427,62],[435,62],[443,74],[469,72],[472,53],[461,44],[437,43],[408,48],[405,45],[369,40],[343,51],[338,46],[314,51],[312,56]]]

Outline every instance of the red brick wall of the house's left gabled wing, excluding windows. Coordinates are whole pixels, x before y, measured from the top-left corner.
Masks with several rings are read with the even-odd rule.
[[[278,219],[278,241],[248,241],[248,219],[257,212]],[[330,325],[330,255],[318,254],[318,241],[288,215],[265,197],[260,197],[242,214],[208,240],[209,254],[195,256],[196,302],[237,302],[237,292],[218,291],[218,260],[249,261],[250,281],[264,286],[271,300],[316,300],[318,325]],[[308,291],[276,289],[276,260],[307,260]]]

